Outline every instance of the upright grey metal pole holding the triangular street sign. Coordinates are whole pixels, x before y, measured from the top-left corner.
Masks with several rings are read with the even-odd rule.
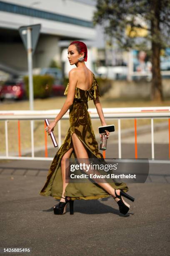
[[[29,77],[29,101],[30,110],[34,110],[33,98],[33,79],[32,79],[32,42],[31,42],[31,28],[27,28],[27,53],[28,53],[28,77]]]

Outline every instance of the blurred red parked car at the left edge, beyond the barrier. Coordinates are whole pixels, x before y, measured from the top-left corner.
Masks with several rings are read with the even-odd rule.
[[[25,98],[25,84],[16,80],[6,81],[0,89],[0,100],[15,99],[21,100]]]

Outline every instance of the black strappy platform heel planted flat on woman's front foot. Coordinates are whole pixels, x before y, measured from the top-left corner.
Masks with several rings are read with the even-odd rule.
[[[59,202],[59,204],[54,206],[54,214],[57,214],[57,215],[65,214],[68,203],[70,204],[70,214],[74,214],[74,210],[73,210],[74,201],[68,200],[67,197],[62,197],[62,198],[65,199],[65,202]]]

